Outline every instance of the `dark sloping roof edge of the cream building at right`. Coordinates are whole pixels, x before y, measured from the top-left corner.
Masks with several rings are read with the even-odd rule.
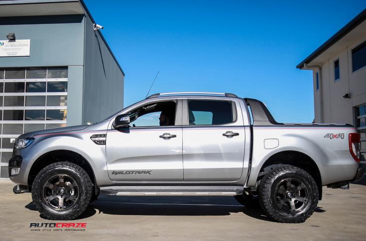
[[[296,66],[297,69],[304,68],[304,64],[308,64],[313,61],[316,57],[321,55],[324,51],[330,48],[333,44],[338,42],[341,38],[355,29],[358,25],[366,20],[366,8],[360,12],[356,17],[354,17],[349,23],[347,23],[343,28],[336,32],[330,39],[323,43],[319,48],[317,48],[313,53],[306,57],[300,64]]]

